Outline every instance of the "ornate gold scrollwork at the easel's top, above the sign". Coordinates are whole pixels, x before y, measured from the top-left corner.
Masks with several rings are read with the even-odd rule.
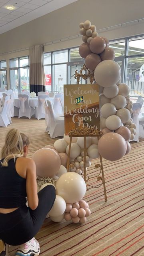
[[[82,72],[85,71],[87,74],[83,74]],[[94,71],[92,71],[92,73],[90,73],[90,70],[86,67],[86,65],[84,64],[82,66],[82,69],[80,70],[80,73],[78,73],[78,70],[75,70],[75,75],[74,78],[76,79],[77,83],[80,83],[80,78],[86,80],[89,79],[90,80],[90,84],[92,84],[95,79],[94,79]]]

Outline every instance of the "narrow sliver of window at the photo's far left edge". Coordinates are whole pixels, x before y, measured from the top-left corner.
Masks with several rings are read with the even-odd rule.
[[[7,89],[6,60],[0,61],[0,88]]]

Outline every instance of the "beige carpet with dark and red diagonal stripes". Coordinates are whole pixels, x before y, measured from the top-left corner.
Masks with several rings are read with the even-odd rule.
[[[12,127],[29,134],[29,156],[57,140],[44,133],[44,120],[13,118],[8,128]],[[0,128],[0,147],[8,128]],[[41,256],[144,256],[144,140],[131,146],[130,153],[121,160],[103,159],[107,202],[103,186],[93,187],[99,186],[94,165],[100,161],[92,161],[87,170],[89,189],[84,197],[91,215],[85,224],[65,220],[56,223],[47,218],[36,235]],[[10,246],[11,256],[16,248]]]

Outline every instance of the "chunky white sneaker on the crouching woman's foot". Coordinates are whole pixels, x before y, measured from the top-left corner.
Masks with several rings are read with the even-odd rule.
[[[33,237],[30,241],[20,245],[15,256],[38,256],[40,254],[40,244]]]

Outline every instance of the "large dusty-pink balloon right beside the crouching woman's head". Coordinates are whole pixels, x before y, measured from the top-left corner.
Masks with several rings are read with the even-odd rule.
[[[60,169],[60,156],[56,150],[41,148],[32,156],[36,164],[36,174],[39,177],[52,177]]]

